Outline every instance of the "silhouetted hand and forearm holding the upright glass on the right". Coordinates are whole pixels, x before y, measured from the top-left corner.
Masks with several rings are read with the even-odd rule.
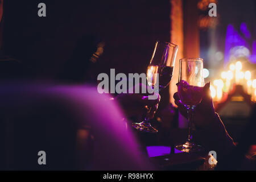
[[[187,118],[187,109],[181,104],[177,92],[174,94],[174,99],[180,113]],[[215,113],[210,96],[210,82],[204,86],[203,100],[196,106],[193,124],[196,129],[194,139],[206,150],[214,150],[218,156],[223,156],[234,147],[233,139],[229,136],[218,114]]]

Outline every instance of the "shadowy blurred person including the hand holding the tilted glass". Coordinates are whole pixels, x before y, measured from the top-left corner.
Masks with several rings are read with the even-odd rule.
[[[104,53],[105,43],[96,35],[88,34],[84,35],[76,44],[76,47],[66,63],[60,67],[60,73],[56,80],[65,84],[97,84],[97,67],[99,62],[102,62],[100,57]],[[146,85],[138,84],[133,88],[146,87]],[[134,92],[133,92],[134,93]],[[127,117],[142,116],[147,113],[148,107],[154,105],[154,109],[151,109],[151,118],[154,117],[157,110],[160,96],[157,100],[148,100],[148,96],[142,94],[118,94],[113,97],[119,105],[122,107],[123,112]]]

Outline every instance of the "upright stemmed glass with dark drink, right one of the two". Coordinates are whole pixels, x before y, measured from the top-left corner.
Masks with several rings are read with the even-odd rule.
[[[180,102],[187,108],[188,112],[188,139],[187,142],[176,146],[177,150],[184,152],[196,152],[203,147],[193,143],[191,126],[193,123],[193,112],[203,98],[203,59],[191,58],[181,59],[179,68],[179,82],[177,84]]]

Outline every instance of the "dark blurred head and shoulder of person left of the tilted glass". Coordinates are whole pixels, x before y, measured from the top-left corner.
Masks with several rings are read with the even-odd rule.
[[[60,66],[57,80],[71,84],[96,84],[96,74],[92,71],[98,57],[103,53],[104,42],[95,35],[84,35],[76,44],[71,57]]]

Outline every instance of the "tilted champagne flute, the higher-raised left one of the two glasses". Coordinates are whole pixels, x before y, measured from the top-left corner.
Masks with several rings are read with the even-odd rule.
[[[147,83],[155,93],[166,88],[171,81],[177,49],[178,46],[172,43],[159,41],[155,43],[150,65],[147,68]],[[150,119],[148,118],[150,110],[151,108],[148,109],[148,113],[142,122],[132,124],[135,129],[147,133],[158,132],[150,125]]]

